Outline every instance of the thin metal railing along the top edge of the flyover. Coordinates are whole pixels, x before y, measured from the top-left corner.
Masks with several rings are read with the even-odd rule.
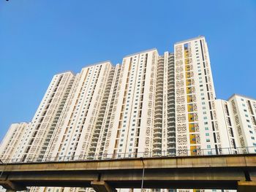
[[[61,161],[95,161],[95,160],[111,160],[111,159],[127,159],[127,158],[156,158],[156,157],[178,157],[178,156],[208,156],[208,155],[236,155],[236,154],[252,154],[256,153],[255,147],[226,147],[226,148],[210,148],[192,150],[178,149],[178,150],[153,150],[146,152],[131,152],[131,153],[94,153],[89,152],[90,155],[58,155],[40,157],[23,156],[23,158],[1,158],[1,164],[17,164],[17,163],[40,163],[40,162],[61,162]]]

